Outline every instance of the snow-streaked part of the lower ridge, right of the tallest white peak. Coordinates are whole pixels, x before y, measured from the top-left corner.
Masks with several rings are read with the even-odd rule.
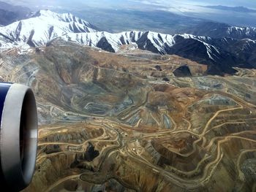
[[[198,47],[198,49],[203,48],[202,54],[206,54],[204,57],[212,61],[217,59],[220,53],[217,47],[205,42],[211,38],[196,37],[190,34],[170,35],[151,31],[125,31],[118,34],[110,34],[108,32],[68,33],[61,38],[78,42],[80,45],[99,47],[113,53],[117,52],[121,45],[130,45],[133,43],[138,45],[138,48],[142,50],[150,50],[151,52],[160,54],[174,54],[178,51],[176,47],[180,47],[179,50],[181,50],[181,44],[187,47],[188,44],[184,43],[185,41],[200,44],[201,47]]]

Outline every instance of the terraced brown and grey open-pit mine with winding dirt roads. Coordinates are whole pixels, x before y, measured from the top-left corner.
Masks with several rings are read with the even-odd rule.
[[[31,191],[256,191],[256,70],[128,46],[55,40],[0,55],[31,86],[39,143]]]

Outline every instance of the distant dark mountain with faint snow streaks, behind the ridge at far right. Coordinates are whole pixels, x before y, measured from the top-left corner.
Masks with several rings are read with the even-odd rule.
[[[185,32],[214,38],[230,37],[256,40],[255,27],[229,26],[225,23],[205,22],[195,28],[188,28]]]

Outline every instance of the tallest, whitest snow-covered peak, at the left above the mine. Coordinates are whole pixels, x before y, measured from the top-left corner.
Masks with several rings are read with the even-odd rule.
[[[31,18],[0,28],[0,41],[23,43],[30,46],[45,45],[67,33],[95,32],[90,23],[74,15],[58,14],[50,10],[36,12]]]

